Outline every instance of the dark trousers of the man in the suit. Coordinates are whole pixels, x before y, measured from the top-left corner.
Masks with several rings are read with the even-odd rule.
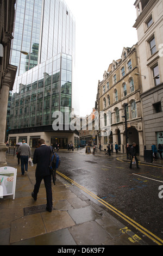
[[[39,188],[41,181],[44,181],[45,188],[46,188],[46,199],[47,199],[47,208],[52,209],[53,205],[53,199],[52,199],[52,176],[51,175],[46,175],[46,176],[39,176],[36,177],[36,184],[34,186],[34,197],[37,197],[37,193],[39,193]]]

